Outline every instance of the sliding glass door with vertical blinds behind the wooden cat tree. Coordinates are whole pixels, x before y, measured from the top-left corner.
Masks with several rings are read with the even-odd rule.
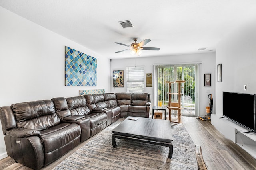
[[[158,106],[168,106],[169,84],[166,81],[175,82],[185,80],[182,83],[182,115],[198,116],[198,64],[174,64],[156,66],[156,89]],[[178,92],[178,84],[173,83],[172,92]],[[172,95],[172,101],[178,101],[178,95]],[[173,111],[172,114],[177,114]]]

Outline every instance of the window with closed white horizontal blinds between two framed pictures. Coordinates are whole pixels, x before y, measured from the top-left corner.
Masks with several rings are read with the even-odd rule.
[[[144,93],[144,66],[126,67],[128,93]]]

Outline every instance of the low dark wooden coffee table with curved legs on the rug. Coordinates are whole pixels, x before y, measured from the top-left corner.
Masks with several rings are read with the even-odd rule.
[[[138,120],[129,120],[136,118]],[[112,132],[112,145],[116,148],[116,138],[151,143],[169,147],[168,158],[172,158],[172,127],[169,120],[127,117]]]

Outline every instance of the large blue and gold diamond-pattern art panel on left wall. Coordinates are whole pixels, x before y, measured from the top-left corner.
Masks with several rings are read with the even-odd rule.
[[[96,86],[97,59],[70,47],[65,51],[65,85]]]

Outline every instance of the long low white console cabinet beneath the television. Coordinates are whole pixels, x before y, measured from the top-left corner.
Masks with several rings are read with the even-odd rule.
[[[212,125],[256,159],[256,133],[244,133],[250,129],[228,118],[220,119],[218,115],[212,115]]]

